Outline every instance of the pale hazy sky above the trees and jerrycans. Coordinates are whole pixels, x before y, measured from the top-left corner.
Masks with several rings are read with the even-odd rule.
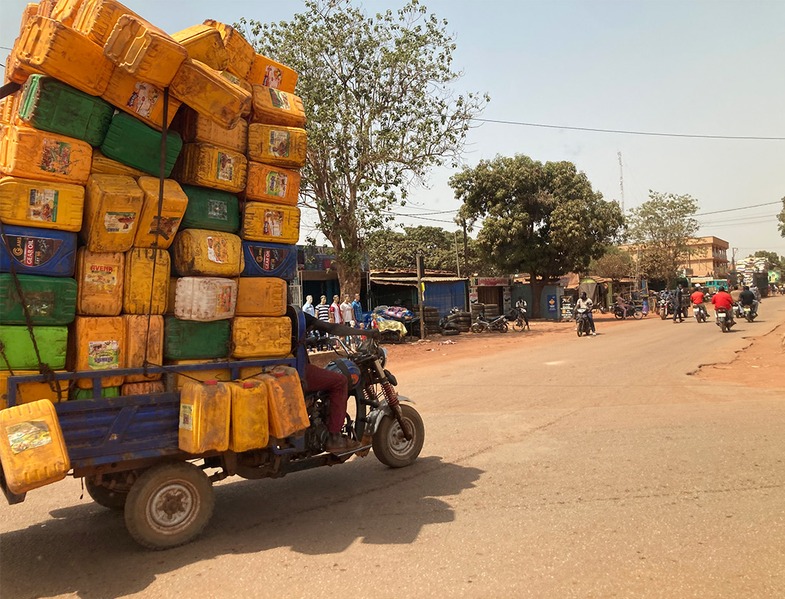
[[[421,3],[454,36],[453,65],[463,73],[456,92],[491,98],[468,135],[465,166],[497,155],[568,160],[626,211],[649,190],[696,198],[698,234],[728,241],[729,259],[785,255],[776,219],[785,196],[784,1]],[[3,62],[25,4],[2,2]],[[304,10],[301,0],[125,4],[169,33],[207,18],[286,21]],[[402,4],[362,3],[367,12]],[[459,202],[448,180],[456,172],[434,169],[399,211],[411,216],[396,223],[454,230]],[[301,240],[314,230],[315,215],[304,213]]]

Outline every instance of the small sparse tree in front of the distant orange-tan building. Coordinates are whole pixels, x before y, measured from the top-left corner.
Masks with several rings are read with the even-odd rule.
[[[673,282],[689,255],[688,241],[698,231],[698,200],[689,195],[649,190],[649,199],[628,218],[629,240],[640,256],[639,267],[650,279]]]

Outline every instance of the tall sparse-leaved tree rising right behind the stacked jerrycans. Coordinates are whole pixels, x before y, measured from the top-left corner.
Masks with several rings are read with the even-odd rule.
[[[359,291],[364,236],[408,187],[460,155],[487,96],[456,95],[446,21],[418,0],[373,17],[351,0],[306,0],[290,22],[242,19],[256,49],[298,71],[308,117],[300,197],[336,253],[343,293]]]

